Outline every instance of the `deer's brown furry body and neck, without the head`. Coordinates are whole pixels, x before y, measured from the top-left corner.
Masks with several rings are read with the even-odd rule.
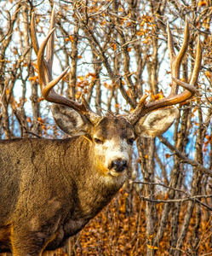
[[[11,251],[10,241],[21,256],[62,246],[112,200],[126,177],[100,168],[85,137],[17,139],[0,147],[0,252]]]

